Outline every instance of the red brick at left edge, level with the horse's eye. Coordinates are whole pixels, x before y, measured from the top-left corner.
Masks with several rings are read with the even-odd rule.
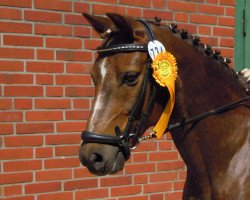
[[[31,74],[0,74],[2,84],[33,84],[34,78]]]

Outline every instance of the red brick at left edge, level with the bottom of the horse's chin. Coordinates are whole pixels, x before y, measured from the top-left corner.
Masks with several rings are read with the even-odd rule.
[[[0,185],[26,183],[33,180],[32,172],[0,174]]]

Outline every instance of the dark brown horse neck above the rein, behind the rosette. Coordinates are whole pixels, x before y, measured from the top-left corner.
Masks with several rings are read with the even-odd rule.
[[[193,117],[207,112],[245,95],[236,74],[226,64],[205,55],[172,32],[166,31],[158,37],[161,36],[167,51],[175,56],[178,65],[176,120],[183,115]]]

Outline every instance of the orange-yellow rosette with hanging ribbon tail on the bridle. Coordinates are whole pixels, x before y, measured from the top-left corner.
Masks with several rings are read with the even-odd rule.
[[[162,52],[156,56],[152,63],[153,77],[163,87],[167,87],[170,98],[167,105],[154,127],[154,132],[159,139],[166,130],[175,103],[175,80],[177,77],[177,64],[175,57],[169,52]]]

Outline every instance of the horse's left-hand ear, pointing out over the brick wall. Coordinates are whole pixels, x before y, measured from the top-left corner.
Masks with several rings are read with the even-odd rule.
[[[82,13],[82,15],[98,33],[103,33],[112,26],[112,21],[106,17],[93,16],[88,13]]]

